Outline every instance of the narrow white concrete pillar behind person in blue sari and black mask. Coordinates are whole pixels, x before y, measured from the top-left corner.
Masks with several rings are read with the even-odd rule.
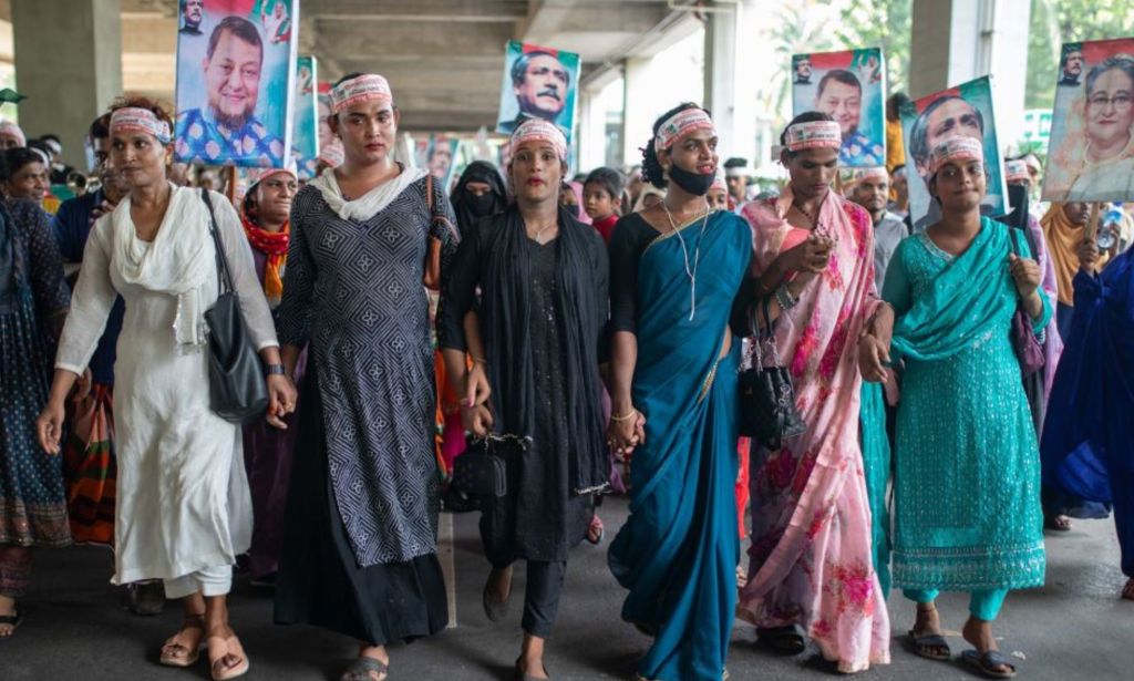
[[[753,67],[758,63],[753,36],[760,32],[754,0],[714,2],[705,24],[704,105],[712,111],[720,134],[721,159],[743,156],[756,163],[756,87]],[[767,80],[764,80],[767,82]]]

